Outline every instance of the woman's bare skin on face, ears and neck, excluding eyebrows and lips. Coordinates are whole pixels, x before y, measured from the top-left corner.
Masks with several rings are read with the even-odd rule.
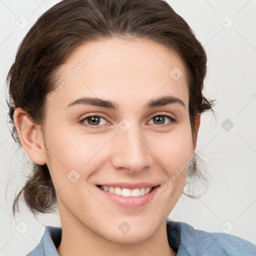
[[[156,42],[109,38],[76,48],[59,67],[56,86],[94,48],[98,54],[52,99],[46,99],[44,133],[21,108],[14,111],[23,148],[33,162],[47,164],[56,190],[62,225],[57,251],[61,256],[175,255],[168,245],[165,219],[182,193],[186,169],[154,202],[137,208],[103,198],[95,185],[147,181],[162,186],[193,157],[196,144],[184,65]],[[183,72],[177,80],[169,75],[174,67]],[[145,107],[151,98],[166,95],[180,98],[185,107],[178,103]],[[119,109],[82,104],[66,108],[81,96],[114,101]],[[165,124],[153,121],[162,112],[177,121],[168,117]],[[88,114],[103,115],[99,128],[78,122]],[[131,124],[126,131],[118,126],[123,118]],[[25,129],[20,129],[22,123]],[[195,120],[196,137],[199,124],[200,116]],[[72,169],[80,175],[74,183],[67,178]],[[125,234],[118,228],[123,221],[131,227]]]

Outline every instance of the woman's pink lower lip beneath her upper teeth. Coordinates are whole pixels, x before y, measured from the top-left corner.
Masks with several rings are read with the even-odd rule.
[[[102,192],[103,196],[105,196],[107,199],[110,199],[117,204],[128,208],[136,208],[150,202],[149,197],[157,191],[158,187],[159,185],[155,186],[148,194],[132,197],[110,193],[96,186],[96,188],[99,189]]]

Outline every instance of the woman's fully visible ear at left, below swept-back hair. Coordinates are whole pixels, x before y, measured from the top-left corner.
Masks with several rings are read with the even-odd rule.
[[[45,164],[46,150],[40,125],[34,124],[21,107],[15,108],[13,120],[21,145],[30,160],[39,165]]]

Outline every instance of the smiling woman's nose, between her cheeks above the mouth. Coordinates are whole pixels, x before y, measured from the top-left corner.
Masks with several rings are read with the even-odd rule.
[[[134,124],[126,131],[118,128],[112,143],[112,164],[116,169],[136,173],[152,165],[152,149],[146,136]]]

